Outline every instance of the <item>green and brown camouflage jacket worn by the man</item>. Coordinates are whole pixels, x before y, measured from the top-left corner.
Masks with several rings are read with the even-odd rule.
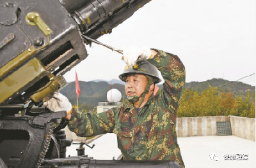
[[[131,102],[99,114],[72,112],[68,128],[77,136],[113,132],[124,160],[172,160],[184,167],[175,131],[185,85],[185,68],[177,55],[156,50],[148,60],[164,78],[164,87],[137,113]]]

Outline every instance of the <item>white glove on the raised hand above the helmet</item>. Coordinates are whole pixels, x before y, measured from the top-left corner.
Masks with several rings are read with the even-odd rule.
[[[152,55],[147,46],[119,46],[113,50],[122,51],[125,63],[131,66],[134,66],[137,60],[147,60]]]

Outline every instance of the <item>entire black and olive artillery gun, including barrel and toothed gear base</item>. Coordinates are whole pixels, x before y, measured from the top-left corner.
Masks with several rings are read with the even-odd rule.
[[[66,158],[65,111],[40,108],[97,39],[148,0],[0,0],[0,168],[173,167],[173,162]],[[59,121],[60,120],[60,121]]]

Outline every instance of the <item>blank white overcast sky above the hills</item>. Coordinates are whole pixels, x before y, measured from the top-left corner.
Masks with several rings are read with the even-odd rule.
[[[111,34],[98,40],[109,46],[146,45],[178,55],[186,82],[224,78],[236,81],[255,73],[255,0],[152,0]],[[122,55],[99,46],[64,75],[75,80],[118,79]],[[243,80],[255,86],[255,74]]]

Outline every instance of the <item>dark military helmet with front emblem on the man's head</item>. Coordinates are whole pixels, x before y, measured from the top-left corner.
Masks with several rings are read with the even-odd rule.
[[[157,68],[147,60],[138,60],[134,66],[125,66],[124,72],[119,75],[120,80],[125,82],[127,74],[129,73],[151,76],[152,78],[157,79],[155,83],[159,83],[161,81]]]

